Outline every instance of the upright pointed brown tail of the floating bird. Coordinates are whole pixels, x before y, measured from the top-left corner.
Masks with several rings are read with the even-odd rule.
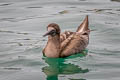
[[[84,19],[84,21],[80,24],[80,26],[78,27],[78,29],[77,29],[76,32],[79,32],[79,33],[90,32],[90,30],[89,30],[88,15],[86,16],[86,18]]]

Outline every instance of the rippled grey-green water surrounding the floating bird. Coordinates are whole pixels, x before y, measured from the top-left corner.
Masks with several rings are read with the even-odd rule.
[[[0,80],[120,80],[120,0],[0,0]],[[42,55],[51,23],[75,31],[89,15],[88,55]]]

